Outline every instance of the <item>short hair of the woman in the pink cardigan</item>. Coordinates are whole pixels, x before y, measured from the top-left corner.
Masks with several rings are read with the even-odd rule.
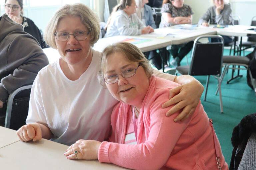
[[[125,58],[131,63],[140,64],[148,78],[150,78],[153,74],[153,68],[150,66],[148,59],[145,58],[144,54],[141,50],[129,43],[129,42],[117,42],[112,45],[108,45],[101,54],[101,62],[100,62],[100,71],[98,73],[98,80],[101,85],[105,87],[104,83],[104,69],[105,69],[105,61],[110,54],[115,52],[121,52],[124,54]]]

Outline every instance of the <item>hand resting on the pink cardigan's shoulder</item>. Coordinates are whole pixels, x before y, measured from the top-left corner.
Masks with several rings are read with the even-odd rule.
[[[182,112],[174,119],[174,122],[187,119],[195,111],[203,91],[204,87],[197,80],[171,89],[169,96],[170,100],[165,102],[162,105],[162,108],[166,108],[173,104],[175,105],[166,113],[166,116],[170,116],[182,109]]]

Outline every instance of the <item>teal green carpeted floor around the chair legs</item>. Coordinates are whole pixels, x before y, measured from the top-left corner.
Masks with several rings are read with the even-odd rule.
[[[249,53],[249,52],[247,52]],[[224,55],[228,55],[229,50],[224,49]],[[190,56],[190,55],[188,55]],[[190,58],[188,58],[190,60]],[[184,58],[181,65],[186,65],[187,61]],[[237,71],[235,72],[237,75]],[[230,164],[232,145],[231,135],[233,128],[238,125],[241,119],[251,113],[256,112],[256,95],[255,92],[247,85],[246,70],[240,71],[242,78],[237,78],[226,84],[227,80],[231,78],[231,69],[225,75],[221,84],[222,101],[224,113],[220,113],[219,94],[215,95],[217,87],[217,79],[210,77],[207,98],[204,101],[204,94],[201,97],[204,110],[209,118],[213,119],[213,126],[221,144],[222,152],[228,165]],[[207,76],[194,76],[204,86],[206,84]]]

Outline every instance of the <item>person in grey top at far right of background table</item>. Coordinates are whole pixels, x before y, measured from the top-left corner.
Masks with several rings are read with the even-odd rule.
[[[208,27],[210,24],[218,25],[234,25],[234,19],[232,17],[232,8],[230,3],[224,3],[224,0],[213,0],[214,6],[207,9],[206,13],[199,19],[198,25]],[[230,43],[233,41],[232,37],[222,36],[224,43]],[[213,41],[212,41],[213,42]]]

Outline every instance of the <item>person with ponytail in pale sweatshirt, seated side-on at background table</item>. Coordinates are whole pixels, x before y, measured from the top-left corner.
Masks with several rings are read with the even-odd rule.
[[[120,3],[114,7],[111,13],[107,25],[106,25],[106,37],[118,36],[118,35],[141,35],[154,32],[151,26],[145,26],[138,18],[136,13],[135,0],[120,0]]]

